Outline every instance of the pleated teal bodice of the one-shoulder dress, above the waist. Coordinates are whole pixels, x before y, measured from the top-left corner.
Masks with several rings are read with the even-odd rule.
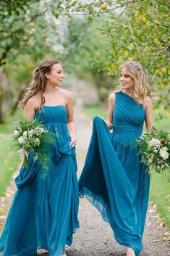
[[[117,92],[113,113],[114,133],[141,134],[144,121],[145,110],[143,104],[139,104],[122,91]]]

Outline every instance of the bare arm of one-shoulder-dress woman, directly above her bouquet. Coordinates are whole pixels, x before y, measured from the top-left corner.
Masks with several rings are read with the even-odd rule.
[[[152,115],[152,101],[150,97],[147,97],[145,99],[145,123],[146,123],[146,128],[147,131],[150,133],[153,128],[153,115]]]

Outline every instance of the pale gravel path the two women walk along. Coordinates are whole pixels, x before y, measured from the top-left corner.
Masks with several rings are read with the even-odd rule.
[[[75,112],[78,142],[77,160],[78,176],[80,176],[85,153],[88,148],[91,123],[82,115],[80,109]],[[12,181],[5,197],[0,199],[0,232],[4,226],[9,206],[14,196],[15,186]],[[77,230],[72,247],[67,247],[67,256],[125,256],[126,249],[114,240],[113,232],[108,223],[90,205],[87,199],[80,199],[79,210],[80,228]],[[170,236],[161,218],[158,217],[156,207],[149,206],[143,238],[144,249],[141,256],[170,256]],[[1,255],[1,254],[0,254]]]

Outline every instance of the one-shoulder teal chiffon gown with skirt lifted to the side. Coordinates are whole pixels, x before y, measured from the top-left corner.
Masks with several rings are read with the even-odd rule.
[[[80,197],[87,199],[109,222],[119,244],[142,250],[148,208],[150,175],[140,162],[138,148],[129,144],[143,132],[142,104],[122,91],[116,93],[113,133],[100,118],[93,120],[93,133],[79,181]]]

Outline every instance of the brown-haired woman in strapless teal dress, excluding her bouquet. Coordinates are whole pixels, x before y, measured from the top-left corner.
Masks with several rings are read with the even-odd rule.
[[[65,244],[72,244],[79,227],[73,99],[59,88],[63,78],[59,62],[44,60],[20,102],[27,120],[38,118],[58,136],[49,149],[51,166],[45,179],[33,154],[29,167],[22,167],[15,178],[17,192],[0,239],[3,256],[66,255]]]

